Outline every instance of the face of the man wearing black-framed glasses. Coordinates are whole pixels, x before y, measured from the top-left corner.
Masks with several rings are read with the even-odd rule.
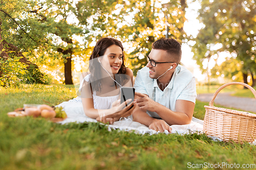
[[[152,51],[150,52],[150,54],[148,55],[148,57],[155,61],[155,62],[169,62],[168,61],[168,56],[169,54],[164,51],[164,50],[155,50],[155,49],[152,49]],[[157,63],[155,67],[153,67],[150,62],[148,62],[146,64],[146,66],[148,68],[150,68],[150,78],[151,79],[157,79],[159,76],[161,76],[162,74],[164,74],[164,72],[170,68],[170,66],[172,66],[174,63]],[[175,67],[174,67],[175,68]],[[173,69],[169,70],[169,71],[172,71]],[[168,72],[168,71],[167,71]],[[167,75],[167,72],[166,74],[164,74],[162,78],[164,78],[164,76]]]

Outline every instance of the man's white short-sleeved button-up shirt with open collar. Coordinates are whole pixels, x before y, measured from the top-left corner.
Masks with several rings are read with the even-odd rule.
[[[134,84],[136,92],[147,94],[150,99],[172,111],[176,111],[176,100],[196,103],[196,80],[193,74],[184,66],[178,65],[175,68],[172,80],[163,91],[158,87],[156,79],[149,77],[149,71],[148,67],[143,67],[138,71]],[[147,111],[147,114],[161,118],[156,112]]]

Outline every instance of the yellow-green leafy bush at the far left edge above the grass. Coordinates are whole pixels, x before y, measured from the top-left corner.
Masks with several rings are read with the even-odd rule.
[[[0,54],[1,55],[1,54]],[[27,74],[27,65],[19,62],[19,59],[22,57],[0,57],[0,86],[10,87],[17,86],[21,82],[30,79],[26,76]]]

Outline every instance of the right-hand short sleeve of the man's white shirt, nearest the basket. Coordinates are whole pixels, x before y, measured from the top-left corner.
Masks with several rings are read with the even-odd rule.
[[[196,103],[197,90],[196,90],[196,80],[195,77],[187,84],[187,86],[182,90],[177,100],[185,100]]]

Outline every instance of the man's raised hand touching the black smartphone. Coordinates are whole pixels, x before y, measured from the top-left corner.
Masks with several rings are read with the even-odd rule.
[[[139,99],[136,99],[134,104],[138,104],[141,110],[148,110],[151,112],[155,112],[158,103],[148,98],[146,94],[142,94],[139,92],[135,92],[135,95],[139,96]]]

